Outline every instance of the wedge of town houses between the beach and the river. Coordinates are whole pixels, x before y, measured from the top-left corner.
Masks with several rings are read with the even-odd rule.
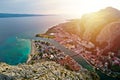
[[[32,43],[34,47],[34,54],[30,54],[32,56],[32,62],[28,61],[28,63],[33,63],[34,61],[37,62],[39,60],[46,60],[55,61],[72,71],[79,71],[82,68],[69,55],[66,55],[64,52],[57,49],[54,45],[50,44],[49,42],[35,40]]]

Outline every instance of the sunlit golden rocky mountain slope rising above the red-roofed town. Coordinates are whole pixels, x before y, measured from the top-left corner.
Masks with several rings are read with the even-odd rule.
[[[117,22],[117,25],[113,25],[113,23],[116,24],[116,22]],[[98,12],[85,14],[81,17],[81,19],[74,19],[69,22],[56,25],[50,28],[46,32],[46,34],[49,34],[51,32],[55,33],[58,31],[55,28],[61,27],[63,30],[65,30],[66,32],[70,34],[76,34],[81,39],[85,41],[91,41],[96,46],[104,48],[104,47],[107,47],[107,44],[109,44],[109,40],[113,38],[115,40],[119,40],[119,37],[118,37],[118,35],[120,34],[119,27],[118,27],[119,22],[120,22],[120,11],[112,7],[107,7]],[[112,26],[110,27],[111,24]],[[114,28],[115,26],[117,28]],[[103,34],[103,31],[105,32],[105,35]],[[114,31],[117,33],[114,34]],[[111,47],[114,44],[115,43],[113,41],[111,43]],[[115,50],[111,50],[111,51],[115,51]]]

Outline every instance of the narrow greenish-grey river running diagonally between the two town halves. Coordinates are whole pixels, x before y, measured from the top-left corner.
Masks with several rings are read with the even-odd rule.
[[[47,39],[47,38],[36,38],[36,40],[42,40],[42,41],[46,41],[49,42],[51,44],[53,44],[57,49],[60,49],[61,51],[63,51],[65,54],[71,56],[78,64],[80,64],[83,68],[91,71],[91,72],[96,72],[98,73],[98,75],[100,76],[101,80],[119,80],[113,77],[109,77],[106,74],[102,73],[101,71],[97,70],[95,71],[95,69],[93,68],[93,66],[91,66],[81,55],[75,55],[76,53],[68,50],[67,48],[65,48],[64,46],[62,46],[61,44],[59,44],[58,42],[56,42],[53,39]]]

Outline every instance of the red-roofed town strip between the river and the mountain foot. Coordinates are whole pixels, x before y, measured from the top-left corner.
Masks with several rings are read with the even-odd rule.
[[[120,51],[118,53],[109,51],[107,55],[104,55],[101,54],[102,49],[98,46],[95,46],[92,42],[82,40],[75,34],[66,32],[62,27],[54,27],[53,30],[55,30],[52,33],[55,36],[54,40],[74,51],[76,53],[74,55],[81,55],[95,69],[108,76],[120,76]]]

